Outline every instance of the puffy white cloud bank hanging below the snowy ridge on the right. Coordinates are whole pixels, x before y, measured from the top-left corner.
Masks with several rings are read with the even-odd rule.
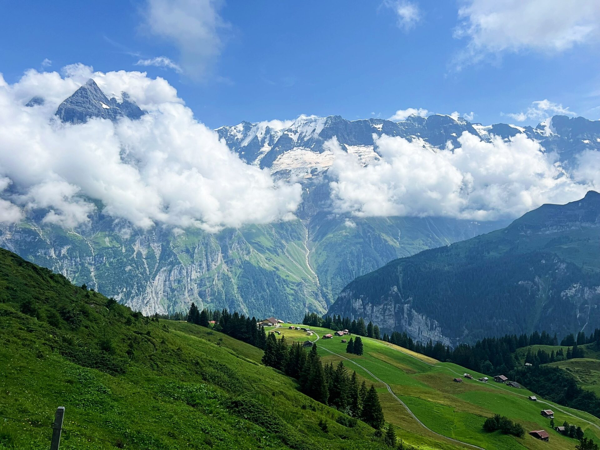
[[[460,147],[438,152],[401,137],[374,139],[382,158],[366,167],[329,141],[335,212],[494,220],[581,198],[593,186],[567,176],[524,134],[484,142],[464,132]]]

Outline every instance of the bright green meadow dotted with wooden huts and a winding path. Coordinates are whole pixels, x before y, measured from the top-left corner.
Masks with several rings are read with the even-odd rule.
[[[304,334],[298,336],[298,332],[290,332],[286,327],[280,329],[286,337],[297,340],[305,339]],[[316,330],[320,335],[328,332],[326,329],[317,328]],[[581,425],[587,436],[600,441],[599,428],[559,412],[559,408],[600,426],[600,421],[592,415],[575,412],[556,404],[548,406],[540,402],[532,402],[527,400],[527,396],[531,393],[526,389],[509,388],[493,381],[487,384],[474,380],[464,380],[460,384],[454,383],[452,378],[462,376],[465,372],[470,372],[476,378],[483,376],[483,374],[467,371],[455,364],[437,362],[422,355],[410,354],[408,350],[401,349],[401,347],[367,338],[364,338],[365,353],[362,356],[345,353],[346,344],[341,343],[341,338],[338,337],[331,340],[319,340],[319,346],[348,357],[376,374],[381,380],[391,385],[394,393],[427,427],[443,436],[453,437],[487,449],[574,448],[575,440],[565,438],[550,430],[550,421],[540,415],[541,409],[550,407],[556,412],[556,423],[562,424],[566,419],[569,423]],[[323,349],[320,349],[320,352],[326,361],[340,359],[339,356],[331,355]],[[373,380],[361,368],[352,367],[353,365],[350,363],[347,365],[355,369],[362,377]],[[380,388],[386,418],[406,430],[404,431],[406,436],[409,436],[410,433],[428,435],[414,419],[410,418],[401,404],[387,394],[387,390],[381,383],[376,386]],[[520,422],[527,431],[548,430],[551,436],[550,442],[542,443],[530,436],[517,439],[499,433],[484,433],[482,431],[483,422],[485,418],[494,413],[506,415]]]

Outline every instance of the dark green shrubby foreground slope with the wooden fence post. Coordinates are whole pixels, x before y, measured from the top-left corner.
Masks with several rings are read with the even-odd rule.
[[[28,299],[37,313],[20,312]],[[0,250],[0,415],[25,421],[0,420],[0,449],[46,449],[57,406],[66,407],[65,450],[113,449],[118,440],[153,450],[379,448],[372,428],[337,424],[337,411],[259,364],[260,350],[106,305]]]

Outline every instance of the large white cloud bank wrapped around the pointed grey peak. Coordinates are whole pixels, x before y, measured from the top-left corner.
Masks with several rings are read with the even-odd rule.
[[[93,200],[105,214],[144,228],[212,231],[293,217],[301,187],[241,161],[194,119],[166,80],[84,65],[63,73],[29,70],[12,85],[0,76],[0,177],[13,182],[17,205],[46,209],[44,220],[64,227],[85,224]],[[109,96],[128,92],[148,113],[137,121],[62,124],[56,107],[89,76]],[[34,95],[46,103],[23,106]],[[18,220],[8,206],[12,221]],[[5,217],[7,205],[0,209]]]

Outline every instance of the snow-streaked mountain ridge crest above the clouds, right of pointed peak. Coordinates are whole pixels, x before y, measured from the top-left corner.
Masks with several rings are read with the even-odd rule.
[[[409,116],[393,122],[370,118],[349,121],[341,116],[305,116],[294,121],[241,122],[217,128],[217,133],[229,147],[248,164],[267,168],[286,178],[317,176],[331,166],[332,152],[325,142],[337,137],[343,150],[358,152],[362,163],[376,160],[374,136],[400,136],[419,140],[425,148],[437,151],[450,142],[460,146],[458,137],[464,131],[490,142],[493,136],[510,139],[524,133],[568,161],[585,148],[600,150],[600,122],[585,118],[554,116],[536,127],[514,124],[482,125],[462,117],[434,114],[427,117]],[[363,149],[364,151],[359,151]]]

